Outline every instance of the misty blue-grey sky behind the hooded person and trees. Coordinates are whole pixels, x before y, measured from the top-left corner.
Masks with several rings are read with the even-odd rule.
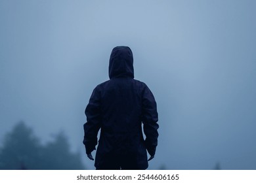
[[[42,142],[64,131],[84,153],[85,107],[108,80],[112,48],[125,45],[158,103],[149,169],[256,169],[255,8],[253,0],[1,0],[0,144],[23,120]]]

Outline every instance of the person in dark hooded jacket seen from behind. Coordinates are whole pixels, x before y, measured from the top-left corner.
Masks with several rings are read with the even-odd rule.
[[[86,154],[93,160],[98,142],[96,169],[147,169],[146,150],[152,159],[158,145],[156,101],[148,86],[134,79],[129,47],[112,50],[108,71],[110,80],[96,86],[85,108]]]

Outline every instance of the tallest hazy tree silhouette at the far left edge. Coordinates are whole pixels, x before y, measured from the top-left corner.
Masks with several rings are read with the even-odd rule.
[[[40,148],[32,129],[19,122],[5,136],[0,152],[1,169],[38,169]]]

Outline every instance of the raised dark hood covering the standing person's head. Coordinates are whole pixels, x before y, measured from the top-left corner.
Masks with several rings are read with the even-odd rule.
[[[116,46],[110,55],[108,75],[112,78],[134,78],[133,52],[128,46]]]

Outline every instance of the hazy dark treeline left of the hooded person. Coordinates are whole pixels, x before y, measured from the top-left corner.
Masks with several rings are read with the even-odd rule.
[[[81,155],[70,151],[64,133],[42,145],[30,127],[19,122],[0,148],[0,169],[84,169]]]

